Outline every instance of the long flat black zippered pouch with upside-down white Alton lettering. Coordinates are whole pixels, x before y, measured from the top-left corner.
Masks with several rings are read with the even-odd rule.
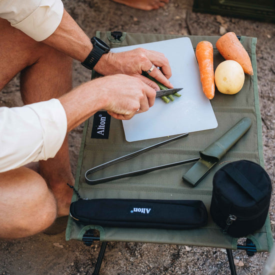
[[[70,204],[70,216],[107,227],[190,229],[207,223],[201,200],[79,199]]]

